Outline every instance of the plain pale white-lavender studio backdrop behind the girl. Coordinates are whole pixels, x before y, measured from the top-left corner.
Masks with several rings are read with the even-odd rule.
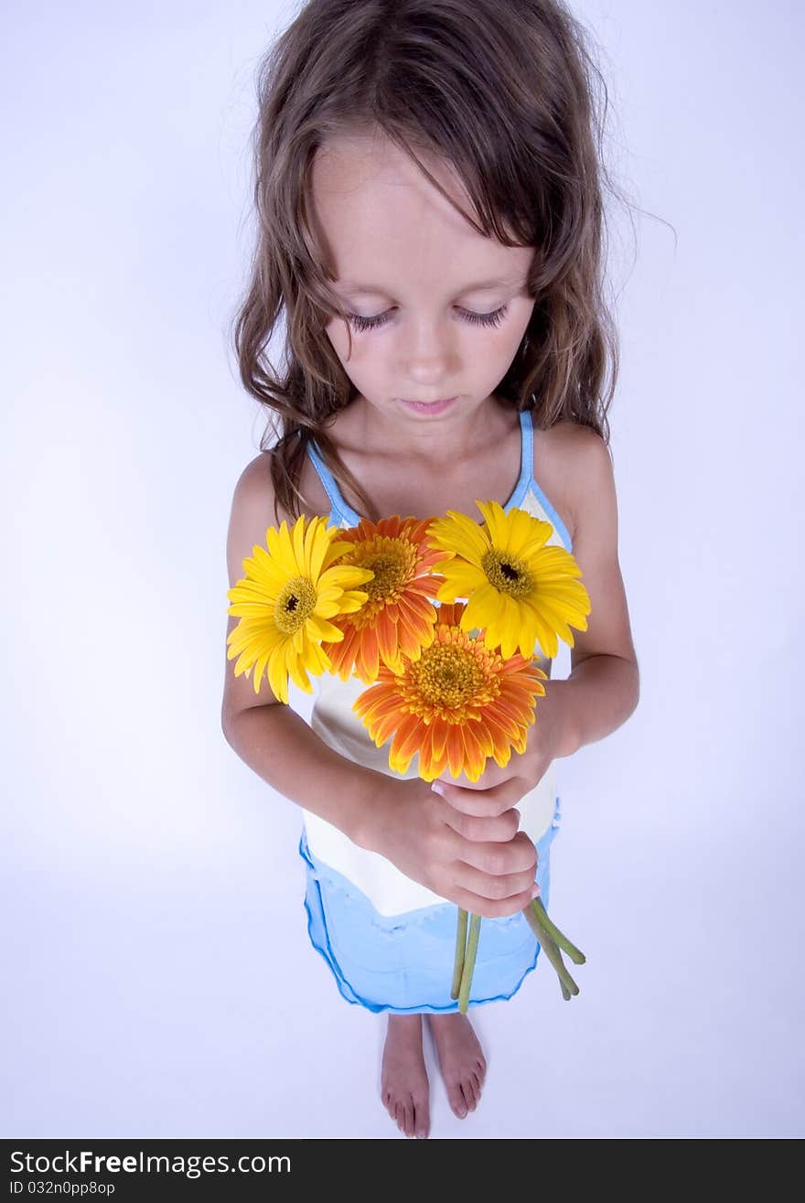
[[[610,411],[641,700],[558,764],[584,948],[432,1138],[801,1137],[803,10],[575,0],[641,209]],[[404,1137],[219,725],[254,69],[292,6],[17,5],[2,71],[4,1137]],[[569,671],[563,648],[560,676]],[[308,712],[309,698],[292,703]],[[541,959],[540,959],[541,960]]]

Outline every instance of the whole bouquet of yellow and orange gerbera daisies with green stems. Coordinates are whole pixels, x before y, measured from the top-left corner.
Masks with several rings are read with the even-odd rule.
[[[425,781],[448,768],[478,781],[489,757],[505,766],[513,748],[525,752],[545,695],[535,641],[547,658],[560,638],[573,646],[570,626],[586,630],[591,606],[573,556],[545,546],[549,522],[475,504],[483,525],[449,510],[443,518],[361,518],[348,529],[304,515],[292,528],[270,527],[227,592],[227,612],[239,618],[227,638],[236,676],[254,670],[256,693],[265,671],[285,704],[289,677],[306,693],[309,674],[357,677],[369,688],[353,709],[377,747],[391,740],[395,772],[415,754]],[[576,965],[584,954],[539,897],[523,914],[569,1000],[579,988],[562,950]],[[461,1012],[480,919],[458,908],[451,997]]]

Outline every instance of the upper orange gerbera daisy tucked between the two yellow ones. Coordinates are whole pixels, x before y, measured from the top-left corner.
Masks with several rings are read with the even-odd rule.
[[[375,681],[380,662],[402,671],[401,656],[415,660],[433,640],[437,608],[432,598],[444,583],[433,574],[434,564],[452,558],[452,552],[431,546],[427,529],[431,518],[401,518],[395,514],[379,522],[361,518],[356,527],[339,531],[338,538],[351,543],[337,563],[371,569],[374,577],[361,582],[368,600],[353,614],[333,615],[331,623],[343,630],[338,642],[322,642],[332,671],[342,681],[351,675]]]

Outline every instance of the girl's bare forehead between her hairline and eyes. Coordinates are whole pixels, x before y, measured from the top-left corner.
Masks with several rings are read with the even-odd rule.
[[[466,212],[472,202],[449,164],[418,155]],[[336,288],[356,295],[393,286],[410,295],[458,292],[484,282],[522,285],[533,256],[478,233],[386,137],[350,136],[321,147],[310,174],[312,207]]]

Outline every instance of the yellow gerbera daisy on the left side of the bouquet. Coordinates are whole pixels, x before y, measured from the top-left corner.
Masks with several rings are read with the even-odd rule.
[[[351,544],[337,538],[338,527],[327,527],[326,517],[307,523],[302,514],[291,531],[285,521],[279,529],[268,527],[266,547],[254,547],[243,561],[245,577],[226,593],[232,603],[226,612],[241,618],[226,639],[226,658],[239,657],[235,676],[248,677],[255,668],[259,693],[266,670],[268,685],[284,703],[289,674],[300,689],[312,693],[308,671],[318,676],[332,670],[320,642],[341,640],[343,634],[328,620],[360,610],[368,594],[355,586],[373,575],[353,564],[333,565]]]

